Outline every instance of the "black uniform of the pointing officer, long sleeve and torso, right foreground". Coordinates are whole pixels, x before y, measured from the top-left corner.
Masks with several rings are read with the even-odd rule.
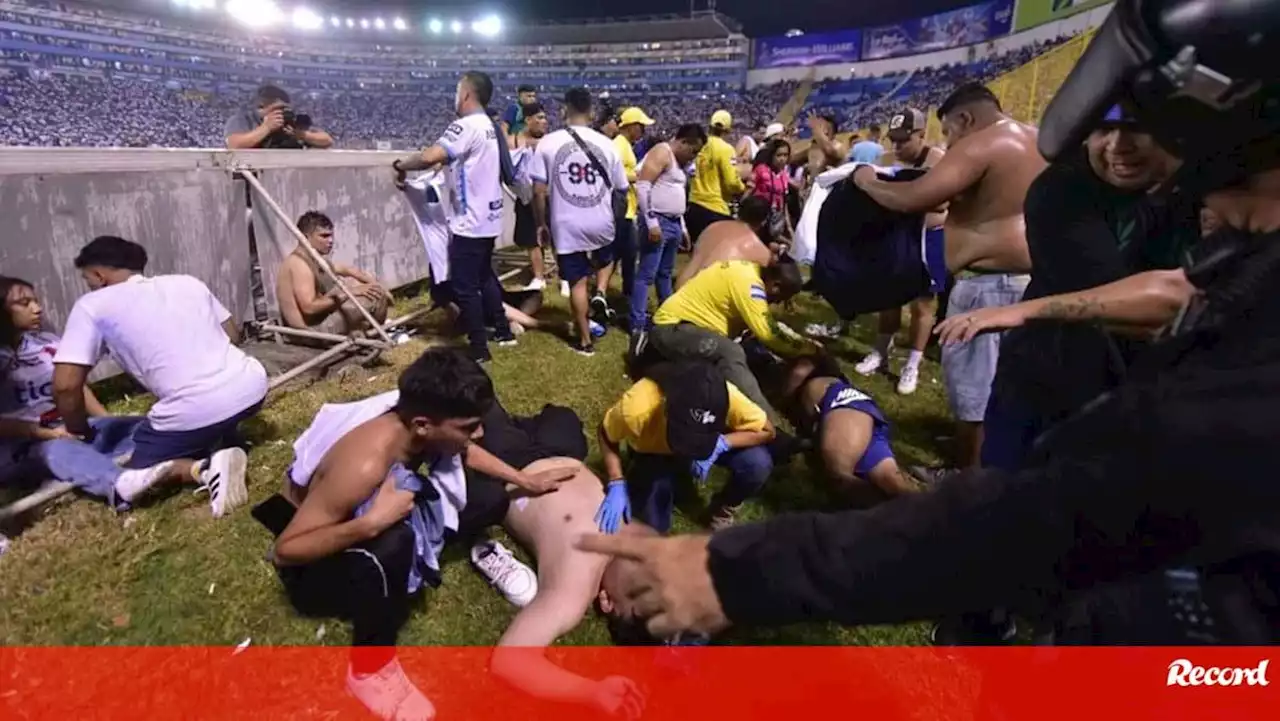
[[[1171,603],[1153,613],[1193,613],[1094,640],[1280,640],[1280,232],[1224,236],[1196,251],[1188,273],[1203,295],[1174,337],[1046,438],[1027,470],[716,534],[708,566],[728,619],[1042,610],[1185,567],[1161,575]],[[1207,612],[1194,608],[1202,601]]]

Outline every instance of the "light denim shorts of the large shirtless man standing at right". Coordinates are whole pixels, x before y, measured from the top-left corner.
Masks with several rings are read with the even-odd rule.
[[[1023,300],[1030,275],[991,274],[957,279],[947,302],[947,318]],[[968,343],[942,347],[942,378],[956,420],[982,423],[991,398],[1004,333],[986,333]]]

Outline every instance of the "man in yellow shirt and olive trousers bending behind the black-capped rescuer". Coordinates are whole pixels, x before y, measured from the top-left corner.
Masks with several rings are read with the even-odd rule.
[[[653,318],[648,346],[666,360],[716,364],[776,424],[780,416],[751,374],[742,346],[733,339],[749,330],[780,356],[815,353],[815,343],[782,330],[769,312],[769,304],[786,302],[800,292],[803,282],[800,269],[790,259],[767,268],[749,260],[712,264],[662,304]]]

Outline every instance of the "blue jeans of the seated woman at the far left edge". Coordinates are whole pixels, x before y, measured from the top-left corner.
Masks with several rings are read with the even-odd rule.
[[[133,432],[145,419],[136,416],[91,417],[92,443],[58,439],[36,443],[28,451],[22,474],[49,476],[105,498],[115,506],[115,479],[120,476],[116,456],[133,452]]]

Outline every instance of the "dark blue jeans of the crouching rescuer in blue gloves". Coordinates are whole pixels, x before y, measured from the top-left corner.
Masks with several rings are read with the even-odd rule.
[[[634,453],[627,469],[627,494],[635,517],[666,534],[676,508],[676,482],[690,474],[689,458]],[[755,496],[773,473],[773,456],[764,446],[730,451],[716,461],[730,470],[728,483],[712,497],[712,507],[737,506]]]

